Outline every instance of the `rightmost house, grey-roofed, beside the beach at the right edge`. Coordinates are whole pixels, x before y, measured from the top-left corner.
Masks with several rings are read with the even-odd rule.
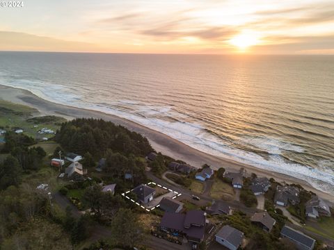
[[[305,214],[306,216],[315,219],[321,215],[331,217],[331,209],[323,199],[315,196],[305,203]]]

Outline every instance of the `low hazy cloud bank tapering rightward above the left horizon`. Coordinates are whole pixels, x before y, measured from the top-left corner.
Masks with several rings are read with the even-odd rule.
[[[28,33],[0,31],[3,51],[95,51],[95,44],[47,38]]]

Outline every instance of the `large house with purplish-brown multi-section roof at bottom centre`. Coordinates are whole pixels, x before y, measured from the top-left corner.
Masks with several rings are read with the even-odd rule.
[[[205,234],[206,214],[202,210],[190,210],[186,214],[164,213],[160,230],[173,235],[184,235],[191,242],[202,242]]]

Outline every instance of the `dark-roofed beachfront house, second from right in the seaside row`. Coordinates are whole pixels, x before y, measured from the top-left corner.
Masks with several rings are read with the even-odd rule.
[[[299,189],[291,185],[284,187],[277,186],[274,201],[277,205],[287,206],[288,203],[292,205],[299,203]]]

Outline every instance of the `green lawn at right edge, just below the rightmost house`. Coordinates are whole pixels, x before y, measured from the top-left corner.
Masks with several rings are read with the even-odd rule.
[[[313,224],[313,225],[312,225]],[[306,223],[305,228],[334,240],[334,217],[320,217],[317,223]]]

